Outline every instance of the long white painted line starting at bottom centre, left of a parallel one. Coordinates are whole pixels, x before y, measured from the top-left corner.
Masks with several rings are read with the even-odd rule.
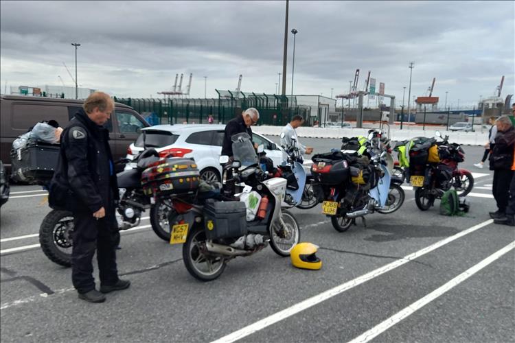
[[[215,340],[211,343],[222,343],[222,342],[229,343],[229,342],[235,342],[237,340],[241,340],[242,338],[247,337],[248,335],[251,335],[252,333],[260,331],[260,330],[264,329],[265,327],[275,324],[276,322],[280,322],[281,320],[284,320],[290,316],[293,316],[294,314],[298,314],[299,312],[304,311],[305,309],[308,309],[308,308],[310,308],[314,305],[317,305],[325,300],[328,300],[328,299],[332,298],[333,296],[337,296],[349,289],[352,289],[358,285],[361,285],[362,283],[365,283],[371,279],[374,279],[377,276],[385,274],[386,272],[394,270],[394,269],[400,267],[401,265],[408,263],[409,261],[413,261],[414,259],[417,259],[418,257],[421,257],[422,255],[426,255],[428,252],[431,252],[437,248],[440,248],[441,246],[444,246],[444,245],[450,243],[451,241],[455,241],[456,239],[459,239],[460,237],[464,237],[465,235],[468,235],[469,233],[472,233],[475,230],[478,230],[479,228],[483,228],[484,226],[492,224],[493,222],[494,222],[493,220],[487,220],[486,222],[482,222],[481,224],[477,224],[475,226],[472,226],[471,228],[463,230],[460,233],[457,233],[456,235],[447,237],[446,239],[442,239],[442,241],[437,241],[435,244],[431,244],[431,246],[426,246],[426,248],[422,248],[421,250],[418,250],[417,252],[413,252],[412,254],[407,255],[402,259],[398,259],[396,261],[388,263],[387,265],[383,265],[382,267],[377,268],[376,270],[372,270],[371,272],[368,272],[367,274],[358,276],[356,279],[347,281],[346,283],[342,283],[341,285],[338,285],[332,289],[328,289],[327,291],[325,291],[321,294],[318,294],[316,296],[312,296],[311,298],[301,301],[300,303],[297,303],[291,307],[288,307],[287,309],[283,309],[282,311],[276,312],[275,314],[272,314],[271,316],[263,318],[262,320],[258,320],[258,322],[250,324],[247,327],[244,327],[238,331],[234,331],[233,333],[229,333],[229,335],[225,335],[224,337],[219,338],[218,340]]]

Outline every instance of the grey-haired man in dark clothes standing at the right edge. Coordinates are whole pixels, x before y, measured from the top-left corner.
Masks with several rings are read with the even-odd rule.
[[[513,217],[511,223],[507,223],[510,220],[506,217],[506,208],[510,194],[510,182],[514,173],[512,164],[515,149],[515,129],[510,118],[505,115],[496,120],[496,126],[497,134],[490,155],[490,170],[494,171],[492,193],[494,193],[497,202],[497,211],[490,212],[490,217],[497,224],[511,224],[513,226],[515,224],[513,223]]]

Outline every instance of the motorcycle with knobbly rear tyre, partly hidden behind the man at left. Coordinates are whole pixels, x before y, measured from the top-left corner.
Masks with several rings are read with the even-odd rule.
[[[141,212],[146,209],[156,211],[150,197],[141,189],[141,172],[150,164],[159,160],[155,149],[145,150],[135,163],[135,168],[126,169],[117,174],[119,201],[116,209],[116,219],[119,230],[128,230],[139,225]],[[124,163],[122,159],[117,163]],[[157,229],[152,226],[157,233]],[[73,246],[73,213],[70,211],[50,211],[39,228],[39,243],[43,253],[50,261],[71,266],[71,249]],[[157,233],[158,234],[158,233]],[[159,234],[158,234],[159,235]]]

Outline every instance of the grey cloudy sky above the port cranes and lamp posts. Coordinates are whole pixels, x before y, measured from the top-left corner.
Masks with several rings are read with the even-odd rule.
[[[191,97],[215,88],[274,93],[282,72],[285,1],[0,1],[0,81],[78,82],[120,97],[158,97],[176,73],[193,73]],[[295,43],[295,94],[348,92],[360,69],[385,82],[402,102],[414,62],[411,95],[448,105],[476,104],[514,93],[514,1],[290,1]],[[291,92],[293,34],[288,34]],[[408,88],[405,102],[407,102]]]

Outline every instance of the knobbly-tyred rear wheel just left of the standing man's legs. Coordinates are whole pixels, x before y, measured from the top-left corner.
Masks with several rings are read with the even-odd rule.
[[[54,210],[48,213],[39,228],[39,243],[50,261],[71,267],[73,214]]]

